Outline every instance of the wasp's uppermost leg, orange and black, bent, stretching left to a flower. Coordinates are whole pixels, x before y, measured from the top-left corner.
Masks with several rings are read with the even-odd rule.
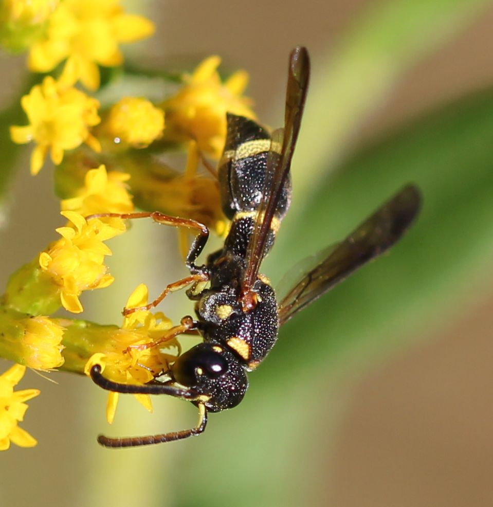
[[[190,269],[192,274],[204,274],[205,266],[196,266],[195,260],[204,249],[205,244],[209,238],[209,228],[200,222],[192,219],[182,219],[177,216],[165,215],[159,211],[141,211],[135,213],[96,213],[94,215],[86,216],[86,220],[95,218],[120,218],[122,220],[133,220],[151,218],[154,222],[162,225],[171,225],[173,227],[187,227],[189,229],[197,229],[198,234],[190,246],[185,263]]]

